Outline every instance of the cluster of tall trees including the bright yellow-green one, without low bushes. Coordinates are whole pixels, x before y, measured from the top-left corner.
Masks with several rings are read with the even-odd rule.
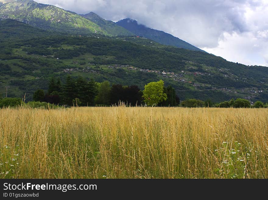
[[[48,91],[36,90],[33,100],[68,106],[110,106],[120,102],[130,106],[177,106],[180,103],[175,89],[165,87],[162,80],[148,83],[142,91],[136,85],[111,85],[108,81],[99,83],[92,79],[88,81],[82,76],[72,78],[70,75],[64,84],[61,79],[52,77]]]

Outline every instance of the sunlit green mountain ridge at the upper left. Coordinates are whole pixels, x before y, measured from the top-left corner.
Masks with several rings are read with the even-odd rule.
[[[0,18],[15,19],[44,30],[72,34],[104,34],[112,36],[99,25],[78,14],[54,5],[45,5],[31,0],[0,0]]]

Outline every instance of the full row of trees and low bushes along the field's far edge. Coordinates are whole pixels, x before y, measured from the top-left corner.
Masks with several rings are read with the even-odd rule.
[[[165,87],[164,81],[150,82],[144,86],[144,90],[136,85],[123,86],[110,82],[95,82],[82,76],[73,78],[66,76],[62,83],[60,78],[52,77],[49,80],[48,90],[37,89],[33,94],[34,102],[46,102],[54,105],[65,106],[111,106],[124,103],[128,106],[164,106],[164,107],[220,107],[220,108],[262,108],[268,107],[267,103],[256,101],[253,105],[249,100],[238,98],[220,103],[214,103],[210,99],[206,101],[187,99],[180,103],[180,99],[172,86]],[[2,98],[0,107],[16,106],[21,104],[19,98]],[[31,103],[34,107],[40,106]],[[44,106],[42,104],[41,106]]]

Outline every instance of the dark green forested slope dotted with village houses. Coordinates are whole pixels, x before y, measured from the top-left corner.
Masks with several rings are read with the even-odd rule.
[[[34,37],[33,37],[34,35]],[[137,37],[72,36],[0,21],[0,96],[31,100],[48,80],[67,74],[141,89],[163,79],[181,100],[234,98],[268,101],[268,68],[228,62],[201,51],[164,46]]]

